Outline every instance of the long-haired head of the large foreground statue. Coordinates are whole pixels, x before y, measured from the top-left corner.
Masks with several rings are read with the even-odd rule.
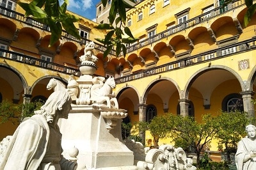
[[[60,114],[60,118],[68,118],[71,102],[72,100],[67,91],[54,91],[40,110],[35,111],[35,114],[44,115],[49,123],[52,123],[56,114]]]

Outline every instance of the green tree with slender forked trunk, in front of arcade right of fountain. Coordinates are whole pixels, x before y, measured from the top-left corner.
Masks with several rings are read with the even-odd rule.
[[[202,116],[202,123],[198,123],[192,117],[175,116],[169,114],[169,123],[173,123],[170,135],[173,141],[183,139],[187,145],[192,145],[196,153],[196,166],[200,166],[200,153],[205,150],[205,146],[211,143],[218,133],[218,118],[211,114]]]

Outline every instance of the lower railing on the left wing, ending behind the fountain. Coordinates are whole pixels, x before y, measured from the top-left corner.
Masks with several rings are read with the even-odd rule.
[[[54,71],[62,72],[62,73],[67,73],[70,75],[77,75],[77,76],[80,75],[79,70],[76,68],[58,65],[56,63],[52,63],[52,62],[45,61],[42,59],[33,58],[31,56],[26,56],[24,54],[19,54],[17,52],[13,52],[10,50],[0,49],[0,58],[3,58],[5,62],[7,62],[5,59],[10,59],[12,61],[24,63],[26,65],[37,66],[40,68],[54,70]]]

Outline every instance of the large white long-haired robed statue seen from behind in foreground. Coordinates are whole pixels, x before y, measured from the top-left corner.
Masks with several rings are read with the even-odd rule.
[[[76,162],[61,153],[60,118],[68,118],[71,98],[67,91],[55,91],[35,115],[26,118],[15,131],[0,169],[76,169]]]

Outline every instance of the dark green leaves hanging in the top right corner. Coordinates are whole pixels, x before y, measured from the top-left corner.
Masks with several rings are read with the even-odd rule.
[[[233,0],[225,0],[223,5],[227,5],[228,3],[232,3]],[[253,4],[253,0],[245,0],[246,13],[244,15],[244,26],[248,26],[249,22],[252,20],[254,13],[256,12],[256,4]]]

